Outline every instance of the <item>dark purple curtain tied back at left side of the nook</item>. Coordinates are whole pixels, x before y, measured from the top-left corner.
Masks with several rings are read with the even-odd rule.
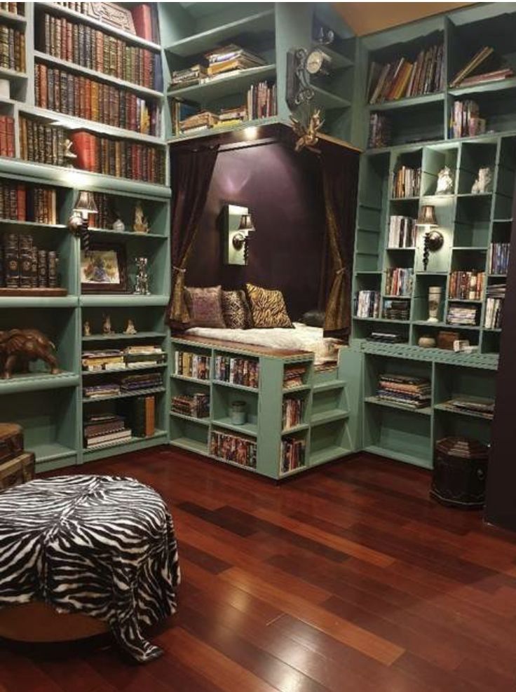
[[[184,329],[189,323],[189,312],[184,301],[184,273],[208,196],[218,151],[218,144],[215,144],[196,151],[172,149],[170,155],[172,291],[167,315],[172,329]]]

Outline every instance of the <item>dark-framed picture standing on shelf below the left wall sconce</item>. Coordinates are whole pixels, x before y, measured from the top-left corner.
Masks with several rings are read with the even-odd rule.
[[[83,293],[127,293],[127,260],[124,245],[92,243],[81,250]]]

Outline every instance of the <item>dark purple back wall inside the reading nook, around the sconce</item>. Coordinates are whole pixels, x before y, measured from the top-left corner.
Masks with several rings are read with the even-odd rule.
[[[217,217],[226,203],[248,206],[256,231],[247,266],[222,264]],[[283,291],[297,320],[318,302],[324,205],[318,158],[280,143],[221,151],[186,271],[186,285]]]

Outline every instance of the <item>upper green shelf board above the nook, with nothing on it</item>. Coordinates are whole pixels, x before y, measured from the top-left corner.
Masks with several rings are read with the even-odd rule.
[[[186,57],[188,55],[196,55],[197,53],[206,53],[214,46],[219,45],[225,39],[236,36],[242,32],[262,32],[268,27],[273,28],[274,10],[265,10],[253,15],[249,15],[234,22],[229,22],[222,27],[208,29],[205,32],[188,36],[186,39],[181,39],[170,43],[165,47],[170,53]]]

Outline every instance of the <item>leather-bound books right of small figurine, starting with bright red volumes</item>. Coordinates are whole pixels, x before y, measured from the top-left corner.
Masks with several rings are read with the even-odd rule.
[[[78,168],[103,175],[114,175],[117,178],[158,184],[165,181],[165,149],[127,140],[98,137],[85,130],[76,130],[71,133],[70,139],[77,154]]]

